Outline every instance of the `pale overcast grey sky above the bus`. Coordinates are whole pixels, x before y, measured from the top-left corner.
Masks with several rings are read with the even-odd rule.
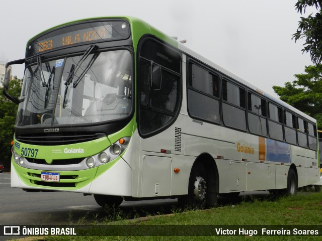
[[[212,62],[277,96],[273,85],[292,82],[311,65],[295,43],[301,15],[294,0],[10,0],[1,3],[0,61],[25,57],[27,41],[66,22],[103,16],[133,16]],[[307,9],[306,15],[314,12]],[[23,77],[24,67],[13,67]]]

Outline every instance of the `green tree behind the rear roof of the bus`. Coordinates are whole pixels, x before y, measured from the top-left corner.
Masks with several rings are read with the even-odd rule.
[[[322,129],[322,64],[305,66],[305,74],[295,74],[297,80],[273,86],[280,99],[312,116]]]

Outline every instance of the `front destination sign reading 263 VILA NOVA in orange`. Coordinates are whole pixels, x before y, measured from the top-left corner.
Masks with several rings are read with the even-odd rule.
[[[127,39],[129,36],[129,24],[125,21],[74,24],[50,31],[33,40],[27,47],[26,57],[58,47],[95,41]]]

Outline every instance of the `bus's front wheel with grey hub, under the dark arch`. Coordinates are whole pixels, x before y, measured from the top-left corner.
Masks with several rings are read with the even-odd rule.
[[[196,163],[190,174],[188,195],[179,197],[179,204],[188,208],[205,208],[207,181],[208,177],[205,167],[200,163]]]

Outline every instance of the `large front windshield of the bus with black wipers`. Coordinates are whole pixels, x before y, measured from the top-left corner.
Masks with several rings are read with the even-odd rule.
[[[92,53],[83,62],[82,57],[42,61],[26,69],[17,126],[98,123],[130,113],[130,52]],[[77,64],[72,80],[66,81]]]

